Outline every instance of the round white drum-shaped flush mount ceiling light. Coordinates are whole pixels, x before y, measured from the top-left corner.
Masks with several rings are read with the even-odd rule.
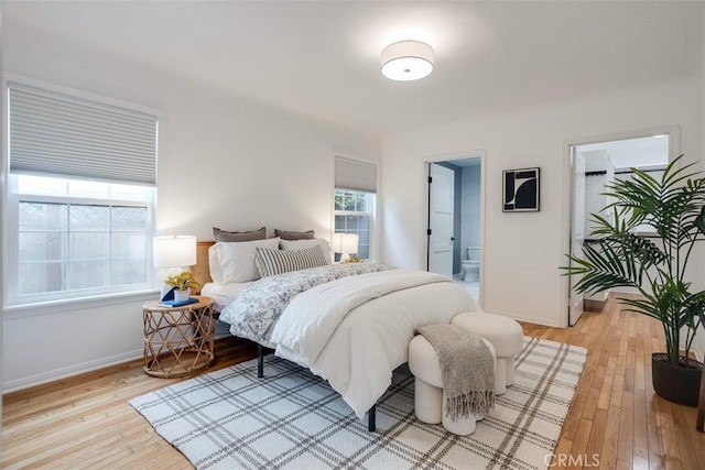
[[[417,80],[433,72],[433,47],[419,41],[401,41],[382,51],[382,75],[392,80]]]

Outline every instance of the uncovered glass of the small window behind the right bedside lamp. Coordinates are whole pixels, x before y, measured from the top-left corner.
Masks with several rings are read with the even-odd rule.
[[[335,190],[335,232],[357,234],[357,255],[362,260],[369,260],[370,258],[370,231],[373,208],[373,194],[344,189]],[[335,253],[335,261],[340,261],[340,255],[341,253]]]

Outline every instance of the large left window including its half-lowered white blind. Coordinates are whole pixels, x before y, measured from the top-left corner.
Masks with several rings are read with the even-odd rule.
[[[156,118],[8,90],[9,305],[153,287]]]

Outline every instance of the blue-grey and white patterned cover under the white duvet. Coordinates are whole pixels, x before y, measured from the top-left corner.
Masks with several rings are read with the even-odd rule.
[[[230,324],[234,335],[271,345],[273,325],[290,302],[302,292],[343,277],[392,269],[380,263],[349,263],[262,277],[224,308],[219,319]]]

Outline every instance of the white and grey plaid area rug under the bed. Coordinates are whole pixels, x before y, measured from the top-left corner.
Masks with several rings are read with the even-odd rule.
[[[524,337],[514,384],[466,437],[414,417],[413,375],[394,371],[367,430],[328,384],[269,356],[130,401],[198,469],[545,469],[587,351]]]

